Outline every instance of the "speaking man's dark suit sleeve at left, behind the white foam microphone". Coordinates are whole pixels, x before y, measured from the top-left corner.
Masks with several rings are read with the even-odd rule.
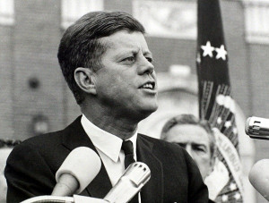
[[[4,176],[8,186],[7,203],[50,195],[56,184],[54,173],[37,148],[23,143],[13,148],[6,162]]]

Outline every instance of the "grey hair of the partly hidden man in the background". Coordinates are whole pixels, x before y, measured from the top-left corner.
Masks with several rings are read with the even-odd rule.
[[[204,131],[207,132],[207,135],[209,138],[211,157],[213,158],[215,156],[215,151],[216,151],[216,146],[215,146],[216,140],[214,137],[212,126],[210,125],[210,123],[208,123],[208,121],[200,120],[196,118],[195,115],[193,114],[180,114],[178,116],[175,116],[169,119],[169,121],[164,124],[161,130],[161,140],[167,139],[167,133],[171,128],[173,128],[176,125],[182,125],[182,124],[192,124],[192,125],[200,126],[201,128],[204,129]]]

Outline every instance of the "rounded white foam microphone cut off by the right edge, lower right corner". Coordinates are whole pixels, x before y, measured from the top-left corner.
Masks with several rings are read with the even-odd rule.
[[[248,179],[253,187],[269,201],[269,159],[263,159],[252,166]]]

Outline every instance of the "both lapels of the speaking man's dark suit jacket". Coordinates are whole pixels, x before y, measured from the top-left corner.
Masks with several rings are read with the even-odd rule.
[[[79,116],[74,123],[70,124],[63,131],[63,145],[70,151],[78,147],[88,147],[98,154],[82,128],[81,117]],[[141,135],[137,136],[137,160],[145,163],[151,169],[151,179],[141,191],[142,202],[159,203],[162,202],[163,197],[162,165],[159,159],[152,154],[152,148],[152,142],[144,139]],[[103,199],[111,188],[112,185],[108,178],[108,173],[103,163],[101,163],[100,173],[97,174],[80,195]]]

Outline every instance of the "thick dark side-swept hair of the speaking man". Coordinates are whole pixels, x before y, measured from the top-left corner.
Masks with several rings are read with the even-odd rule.
[[[87,13],[65,30],[57,56],[77,104],[82,103],[84,95],[74,80],[74,70],[77,67],[91,68],[93,71],[100,69],[101,56],[108,48],[100,38],[108,37],[119,30],[145,32],[139,21],[123,12]]]

